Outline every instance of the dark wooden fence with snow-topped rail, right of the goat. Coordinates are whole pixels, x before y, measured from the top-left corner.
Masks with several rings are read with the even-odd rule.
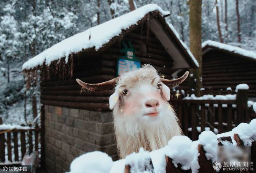
[[[230,91],[230,90],[228,90]],[[236,94],[203,95],[180,92],[171,100],[183,133],[192,140],[197,140],[200,132],[210,129],[214,133],[230,131],[241,122],[250,122],[256,118],[252,104],[248,102],[248,90],[238,89]],[[186,96],[182,99],[182,97]],[[250,107],[248,107],[248,105]]]

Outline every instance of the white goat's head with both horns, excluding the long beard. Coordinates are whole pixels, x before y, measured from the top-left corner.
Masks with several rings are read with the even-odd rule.
[[[170,100],[169,87],[182,83],[187,76],[188,72],[174,80],[160,78],[153,66],[144,65],[107,82],[87,84],[79,79],[77,82],[90,91],[104,91],[116,85],[115,93],[109,98],[109,108],[120,115],[136,116],[145,121],[156,120],[163,110],[171,109],[167,102]]]

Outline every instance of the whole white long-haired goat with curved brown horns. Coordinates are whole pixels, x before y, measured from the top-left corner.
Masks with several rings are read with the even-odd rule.
[[[125,158],[141,147],[148,151],[162,148],[173,136],[182,134],[168,103],[169,87],[182,83],[187,76],[188,72],[178,79],[163,79],[153,66],[144,65],[100,84],[77,82],[90,91],[104,91],[117,84],[109,108],[113,109],[119,157]]]

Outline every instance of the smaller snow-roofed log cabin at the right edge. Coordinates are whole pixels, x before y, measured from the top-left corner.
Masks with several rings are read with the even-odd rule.
[[[202,43],[202,85],[206,90],[233,92],[248,84],[250,100],[256,100],[256,53],[208,40]]]

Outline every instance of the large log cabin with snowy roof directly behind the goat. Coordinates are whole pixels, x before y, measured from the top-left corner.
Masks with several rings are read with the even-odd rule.
[[[136,59],[140,66],[152,64],[165,78],[198,67],[174,27],[165,21],[167,15],[156,4],[145,5],[71,36],[23,64],[28,85],[40,71],[42,161],[47,172],[68,171],[75,157],[90,151],[118,157],[108,104],[113,91],[80,92],[76,78],[88,83],[115,78],[124,56]]]

